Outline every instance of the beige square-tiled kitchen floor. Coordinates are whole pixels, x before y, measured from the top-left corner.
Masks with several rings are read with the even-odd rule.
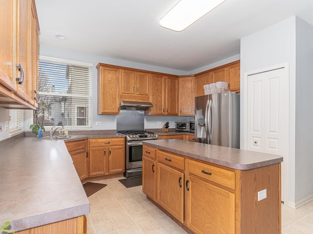
[[[146,195],[142,186],[125,188],[118,179],[89,196],[87,234],[187,234]],[[282,234],[313,234],[313,201],[294,210],[282,205]]]

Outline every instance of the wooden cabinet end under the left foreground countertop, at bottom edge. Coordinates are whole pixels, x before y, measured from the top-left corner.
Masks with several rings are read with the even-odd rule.
[[[70,218],[60,222],[50,223],[36,228],[16,232],[16,234],[87,234],[86,216]]]

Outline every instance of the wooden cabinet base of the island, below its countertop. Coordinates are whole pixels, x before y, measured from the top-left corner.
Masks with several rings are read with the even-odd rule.
[[[281,234],[280,163],[236,170],[149,147],[156,160],[143,157],[143,192],[180,226],[194,234]]]

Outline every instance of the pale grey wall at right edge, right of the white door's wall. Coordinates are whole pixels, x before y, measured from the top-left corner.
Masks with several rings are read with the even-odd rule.
[[[313,199],[313,26],[296,19],[295,201]]]

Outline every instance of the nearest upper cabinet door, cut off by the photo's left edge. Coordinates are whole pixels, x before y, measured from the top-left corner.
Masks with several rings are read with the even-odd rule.
[[[13,51],[14,2],[2,0],[0,7],[0,84],[11,91],[17,91]],[[14,65],[14,66],[13,66]]]

